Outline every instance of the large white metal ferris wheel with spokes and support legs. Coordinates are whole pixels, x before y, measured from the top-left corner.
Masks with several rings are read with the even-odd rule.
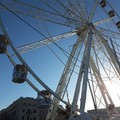
[[[20,24],[23,24],[24,29],[29,27],[40,36],[40,38],[36,37],[40,40],[35,41],[34,37],[31,37],[32,32],[27,32],[25,35],[30,36],[31,40],[21,41],[19,45],[13,40],[14,37],[11,39],[10,33],[3,24],[5,21],[1,18],[0,26],[3,34],[0,35],[0,53],[6,54],[14,65],[12,81],[27,82],[37,93],[40,93],[34,82],[30,80],[32,76],[53,95],[46,120],[90,119],[86,110],[91,104],[96,112],[93,116],[99,117],[98,110],[105,108],[109,119],[120,119],[112,97],[116,94],[117,99],[120,100],[118,3],[118,0],[114,3],[110,0],[52,0],[50,2],[49,0],[35,2],[11,0],[0,3],[6,15],[14,16],[15,20],[18,19]],[[17,31],[16,25],[13,27],[11,30]],[[27,30],[22,27],[19,29],[24,33]],[[21,38],[25,39],[26,36]],[[49,71],[51,76],[56,76],[58,72],[58,76],[61,76],[59,80],[55,78],[55,81],[48,82],[51,85],[44,82],[38,69],[34,70],[31,67],[32,63],[29,63],[31,61],[29,53],[32,53],[36,55],[36,58],[32,58],[37,61],[36,67],[40,64],[37,60],[40,49],[42,49],[41,57],[42,54],[48,57],[42,63],[45,69],[44,75],[47,76]],[[19,63],[16,62],[18,60]],[[60,65],[55,66],[57,65],[55,61]],[[61,65],[64,69],[59,71],[58,67],[61,68]],[[41,71],[43,68],[41,67]],[[54,69],[53,73],[52,69]],[[52,88],[54,82],[56,90]],[[64,107],[61,107],[61,104]]]

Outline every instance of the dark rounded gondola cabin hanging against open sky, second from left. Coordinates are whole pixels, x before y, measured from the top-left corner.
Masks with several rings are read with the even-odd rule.
[[[13,79],[14,83],[23,83],[26,81],[28,70],[24,65],[17,64],[13,70]]]

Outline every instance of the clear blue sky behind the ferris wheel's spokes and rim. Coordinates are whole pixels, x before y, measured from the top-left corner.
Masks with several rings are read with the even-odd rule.
[[[7,5],[10,6],[10,9],[11,9],[12,8],[11,4],[8,4],[11,1],[12,0],[6,0],[6,1],[1,0],[0,2],[6,6]],[[114,2],[112,0],[109,0],[109,1],[112,3],[113,7],[115,7],[116,11],[120,10],[118,6],[118,2],[120,3],[119,0],[115,0]],[[27,1],[25,2],[27,3]],[[28,3],[32,4],[33,1],[30,0]],[[88,10],[89,10],[90,7],[92,7],[92,2],[90,2],[89,0],[86,0],[86,4],[89,4],[89,7],[88,7]],[[34,2],[33,5],[37,6],[37,2]],[[41,5],[40,7],[44,9],[49,9],[44,5]],[[61,7],[59,6],[58,9],[60,10],[60,12],[62,12],[60,8]],[[26,25],[23,21],[21,21],[19,18],[13,15],[11,12],[5,10],[3,7],[1,7],[1,5],[0,5],[0,9],[1,9],[0,17],[3,21],[5,29],[9,37],[11,38],[15,48],[38,41],[38,40],[45,39],[42,35],[40,35],[40,33],[36,32],[30,26]],[[14,11],[13,8],[11,10]],[[22,8],[20,8],[20,10],[24,12],[25,9],[23,10]],[[105,18],[103,13],[104,11],[100,7],[98,7],[98,9],[96,10],[93,22],[99,21]],[[37,11],[33,10],[33,13],[31,12],[31,14],[33,15],[37,14]],[[46,37],[55,36],[55,35],[73,30],[73,28],[57,25],[54,23],[49,23],[49,22],[44,23],[40,19],[29,17],[27,15],[18,14],[18,13],[17,15],[19,15],[22,19],[27,21],[30,25],[32,25],[38,31],[42,32]],[[42,17],[44,17],[43,15],[44,14],[42,14]],[[40,13],[39,13],[39,16],[41,17]],[[45,16],[47,15],[45,14]],[[49,18],[51,16],[47,16],[47,17]],[[58,19],[56,18],[56,20],[60,21],[59,18]],[[117,21],[117,18],[116,18],[116,21]],[[110,26],[108,26],[108,24],[104,24],[102,25],[102,27],[109,29]],[[46,26],[49,33],[47,33]],[[115,30],[114,27],[113,27],[113,30]],[[0,34],[3,34],[1,29],[0,29]],[[64,50],[70,53],[76,39],[77,39],[77,36],[72,36],[70,38],[58,41],[57,44],[60,47],[62,47]],[[54,44],[50,44],[49,46],[62,59],[62,61],[66,63],[68,57],[66,57],[61,52],[61,50]],[[10,48],[10,46],[8,47],[8,50],[12,55],[13,51]],[[24,58],[26,63],[32,68],[32,70],[36,73],[36,75],[38,75],[45,84],[47,84],[53,91],[55,91],[65,65],[61,63],[61,61],[53,54],[53,52],[51,52],[47,46],[44,46],[44,47],[41,47],[40,49],[36,49],[30,52],[24,53],[22,54],[22,57]],[[17,64],[20,63],[20,61],[16,56],[12,57],[12,59],[14,59],[14,61]],[[37,93],[26,82],[23,84],[13,83],[12,73],[13,73],[13,65],[11,64],[11,62],[9,61],[9,59],[5,54],[1,54],[0,55],[0,103],[1,103],[0,110],[6,108],[13,101],[20,98],[21,96],[34,97],[34,98],[37,97]],[[30,74],[28,74],[28,78],[40,90],[44,89],[40,84],[38,84],[38,82],[36,82],[36,80]],[[74,81],[72,82],[72,85],[75,85],[76,78],[77,76],[73,77]],[[70,91],[72,91],[72,88],[70,88]]]

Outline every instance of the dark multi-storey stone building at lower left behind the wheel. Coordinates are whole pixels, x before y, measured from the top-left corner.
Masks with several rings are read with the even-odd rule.
[[[51,106],[49,97],[20,97],[6,109],[1,110],[0,120],[45,120]]]

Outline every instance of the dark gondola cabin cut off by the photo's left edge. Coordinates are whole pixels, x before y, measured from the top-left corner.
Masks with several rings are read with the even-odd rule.
[[[6,53],[7,46],[9,45],[5,35],[0,35],[0,54]]]

